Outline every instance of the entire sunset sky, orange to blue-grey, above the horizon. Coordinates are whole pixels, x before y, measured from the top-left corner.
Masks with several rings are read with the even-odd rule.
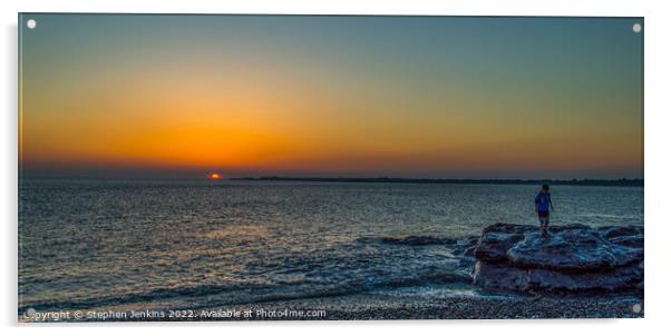
[[[25,176],[643,177],[641,18],[20,22]]]

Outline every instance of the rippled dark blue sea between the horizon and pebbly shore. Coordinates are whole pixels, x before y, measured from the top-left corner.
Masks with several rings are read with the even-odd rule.
[[[551,186],[551,225],[643,225],[642,187]],[[532,185],[30,179],[19,315],[487,295],[455,246],[536,224]]]

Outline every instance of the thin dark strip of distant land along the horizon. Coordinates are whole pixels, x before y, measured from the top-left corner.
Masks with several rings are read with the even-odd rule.
[[[454,178],[398,178],[398,177],[232,177],[237,181],[305,181],[305,182],[362,182],[362,184],[438,184],[438,185],[560,185],[643,187],[643,179],[454,179]]]

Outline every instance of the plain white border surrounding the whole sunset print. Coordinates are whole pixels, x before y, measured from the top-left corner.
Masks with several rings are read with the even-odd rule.
[[[668,241],[671,239],[669,215],[664,207],[670,202],[668,171],[668,134],[671,132],[669,113],[671,78],[669,71],[669,36],[671,21],[664,1],[621,0],[321,0],[321,1],[214,1],[214,0],[27,0],[2,1],[2,87],[4,109],[0,125],[0,209],[2,214],[2,327],[10,334],[49,333],[55,335],[117,335],[144,334],[149,329],[167,335],[186,333],[235,334],[343,334],[357,332],[392,335],[419,333],[449,333],[471,335],[574,335],[609,334],[642,335],[668,329],[664,317],[669,298]],[[450,16],[625,16],[645,17],[645,318],[622,320],[432,320],[432,322],[309,322],[309,323],[163,323],[163,324],[99,324],[20,325],[17,326],[17,12],[144,12],[144,13],[296,13],[296,14],[450,14]],[[144,326],[142,329],[128,328]],[[184,330],[184,327],[196,327]],[[328,327],[328,328],[327,328]],[[45,328],[48,328],[45,329]]]

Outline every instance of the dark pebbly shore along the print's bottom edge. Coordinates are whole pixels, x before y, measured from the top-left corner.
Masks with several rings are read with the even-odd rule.
[[[364,303],[366,302],[366,303]],[[636,313],[635,305],[640,310]],[[205,317],[207,312],[252,312],[251,317]],[[99,309],[98,312],[106,312]],[[113,312],[113,310],[109,310]],[[188,309],[175,312],[189,312]],[[260,312],[266,316],[257,316]],[[273,317],[273,312],[323,312],[320,317]],[[99,322],[256,322],[256,320],[393,320],[393,319],[546,319],[546,318],[643,318],[642,293],[603,296],[450,296],[417,299],[412,296],[362,294],[343,297],[286,300],[243,306],[193,309],[193,316],[153,318],[98,318],[27,320],[20,323]]]

